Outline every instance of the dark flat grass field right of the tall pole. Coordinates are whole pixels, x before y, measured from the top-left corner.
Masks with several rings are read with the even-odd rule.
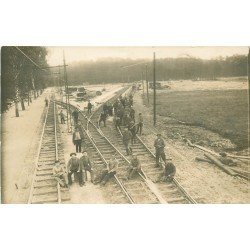
[[[152,105],[152,95],[151,95]],[[201,126],[248,147],[247,90],[202,90],[157,93],[157,114]]]

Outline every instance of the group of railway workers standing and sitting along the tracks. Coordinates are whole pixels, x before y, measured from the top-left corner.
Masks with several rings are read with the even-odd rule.
[[[91,114],[91,109],[93,105],[91,102],[88,102],[88,114]],[[136,135],[142,134],[143,128],[143,116],[141,113],[138,115],[137,123],[135,122],[135,110],[133,108],[133,95],[130,94],[128,97],[125,95],[124,97],[120,96],[114,104],[107,103],[103,105],[103,110],[100,114],[98,125],[100,126],[101,122],[103,122],[104,126],[106,126],[106,119],[108,116],[114,116],[114,125],[116,129],[121,130],[121,126],[125,126],[124,131],[122,133],[123,144],[126,149],[126,153],[130,159],[130,166],[128,169],[128,175],[126,177],[127,180],[131,179],[135,173],[143,174],[141,163],[139,158],[132,152],[131,144],[133,145],[136,142]],[[60,112],[61,123],[65,123],[65,117],[63,112]],[[53,175],[55,179],[59,182],[61,186],[66,186],[72,184],[72,174],[74,174],[74,179],[79,181],[79,185],[85,185],[87,180],[87,172],[90,173],[91,182],[94,184],[100,183],[101,185],[105,185],[108,180],[113,177],[119,165],[119,161],[117,159],[117,155],[114,154],[111,156],[110,160],[107,164],[107,169],[103,171],[98,180],[94,180],[94,171],[92,168],[92,163],[88,157],[88,154],[84,149],[82,149],[82,145],[84,144],[84,135],[81,133],[78,126],[78,116],[79,113],[77,110],[72,112],[72,117],[74,120],[75,131],[73,132],[73,144],[76,147],[76,153],[81,153],[81,157],[78,158],[76,153],[70,154],[70,160],[68,161],[66,170],[60,165],[59,161],[55,162],[55,167],[53,169]],[[155,147],[155,155],[156,155],[156,167],[162,166],[161,161],[164,164],[164,172],[159,176],[158,181],[168,181],[172,180],[176,168],[174,164],[166,158],[164,149],[165,142],[161,136],[161,134],[157,134],[157,138],[154,142]]]

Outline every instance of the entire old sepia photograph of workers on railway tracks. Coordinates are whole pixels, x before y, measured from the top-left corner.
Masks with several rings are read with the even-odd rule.
[[[246,46],[3,46],[1,203],[249,204]]]

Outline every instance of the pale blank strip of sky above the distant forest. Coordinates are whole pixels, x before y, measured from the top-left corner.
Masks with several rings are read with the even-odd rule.
[[[66,63],[76,61],[98,60],[101,58],[131,58],[151,59],[153,52],[156,58],[166,57],[197,57],[211,59],[219,56],[232,56],[235,54],[247,54],[247,47],[48,47],[48,63],[52,65],[62,64],[63,51]]]

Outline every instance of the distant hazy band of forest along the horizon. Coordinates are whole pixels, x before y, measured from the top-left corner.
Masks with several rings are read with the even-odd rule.
[[[70,84],[83,82],[125,82],[139,81],[142,71],[148,65],[148,79],[152,79],[152,60],[103,59],[96,62],[77,62],[69,65]],[[137,66],[123,68],[130,64]],[[164,58],[156,60],[157,80],[216,79],[218,77],[237,77],[247,75],[247,56],[234,55],[211,60],[199,58]]]

